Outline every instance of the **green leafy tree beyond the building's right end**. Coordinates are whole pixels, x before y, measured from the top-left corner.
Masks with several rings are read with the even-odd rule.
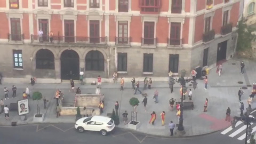
[[[251,42],[255,39],[255,35],[252,34],[254,30],[254,28],[247,26],[243,20],[238,22],[237,51],[247,51],[252,49]]]

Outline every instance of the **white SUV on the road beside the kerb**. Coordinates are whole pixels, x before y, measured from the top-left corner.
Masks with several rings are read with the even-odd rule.
[[[115,128],[114,121],[105,116],[83,117],[76,121],[75,128],[79,132],[99,131],[102,135],[111,132]]]

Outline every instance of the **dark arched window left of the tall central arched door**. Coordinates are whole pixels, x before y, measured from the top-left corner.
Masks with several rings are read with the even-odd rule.
[[[54,55],[50,50],[41,49],[37,51],[36,69],[55,69]]]

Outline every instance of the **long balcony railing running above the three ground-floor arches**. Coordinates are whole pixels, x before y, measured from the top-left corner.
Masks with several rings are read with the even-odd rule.
[[[47,41],[47,39],[49,40]],[[107,44],[106,40],[107,40],[107,37],[53,36],[52,38],[50,38],[49,36],[31,35],[31,43],[54,43],[54,44],[74,43],[74,44],[106,45]]]

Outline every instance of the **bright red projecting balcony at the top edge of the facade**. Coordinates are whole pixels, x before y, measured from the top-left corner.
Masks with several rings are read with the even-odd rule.
[[[161,8],[161,0],[139,0],[141,13],[157,14]]]

